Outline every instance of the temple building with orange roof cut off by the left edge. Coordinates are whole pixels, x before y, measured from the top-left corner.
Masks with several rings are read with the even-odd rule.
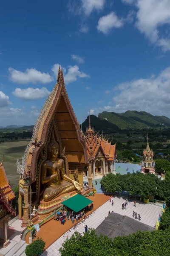
[[[11,215],[16,215],[16,210],[12,208],[12,200],[15,198],[8,183],[3,161],[0,164],[0,244],[6,248],[9,244],[7,227]]]

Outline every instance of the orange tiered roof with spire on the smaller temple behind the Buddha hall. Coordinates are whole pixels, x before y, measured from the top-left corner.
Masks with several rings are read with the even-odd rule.
[[[111,145],[111,142],[108,142],[108,140],[105,140],[101,138],[101,136],[98,137],[98,134],[95,134],[94,128],[91,128],[91,122],[90,122],[90,114],[89,114],[89,128],[86,129],[84,136],[86,148],[87,148],[87,154],[88,158],[95,159],[97,157],[97,154],[99,151],[102,152],[103,156],[109,160],[113,161],[116,157],[116,144]]]

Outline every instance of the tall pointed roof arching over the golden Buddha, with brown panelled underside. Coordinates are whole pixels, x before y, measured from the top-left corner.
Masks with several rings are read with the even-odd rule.
[[[31,175],[32,182],[36,180],[38,157],[42,148],[48,142],[48,132],[52,122],[56,123],[56,132],[62,141],[60,149],[63,151],[65,147],[68,162],[87,163],[88,157],[85,143],[81,136],[79,123],[68,98],[63,72],[60,70],[60,67],[57,83],[46,99],[34,125],[33,136],[25,150],[22,168],[18,165],[18,172],[21,173],[21,169],[24,169],[24,175]]]

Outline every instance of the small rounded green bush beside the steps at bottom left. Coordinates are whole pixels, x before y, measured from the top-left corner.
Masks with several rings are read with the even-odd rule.
[[[45,248],[45,241],[42,238],[37,238],[32,244],[26,247],[26,256],[38,256],[41,255],[42,250]]]

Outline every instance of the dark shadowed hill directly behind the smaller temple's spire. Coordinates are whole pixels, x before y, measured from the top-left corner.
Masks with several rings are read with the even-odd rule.
[[[90,116],[91,119],[91,127],[94,128],[94,131],[109,131],[109,130],[119,130],[119,127],[117,125],[114,125],[111,122],[108,122],[105,119],[100,119],[97,116],[91,115]],[[80,125],[81,126],[81,125]],[[89,116],[87,117],[87,119],[85,119],[85,122],[82,123],[82,130],[85,133],[86,128],[88,128],[89,126]]]

